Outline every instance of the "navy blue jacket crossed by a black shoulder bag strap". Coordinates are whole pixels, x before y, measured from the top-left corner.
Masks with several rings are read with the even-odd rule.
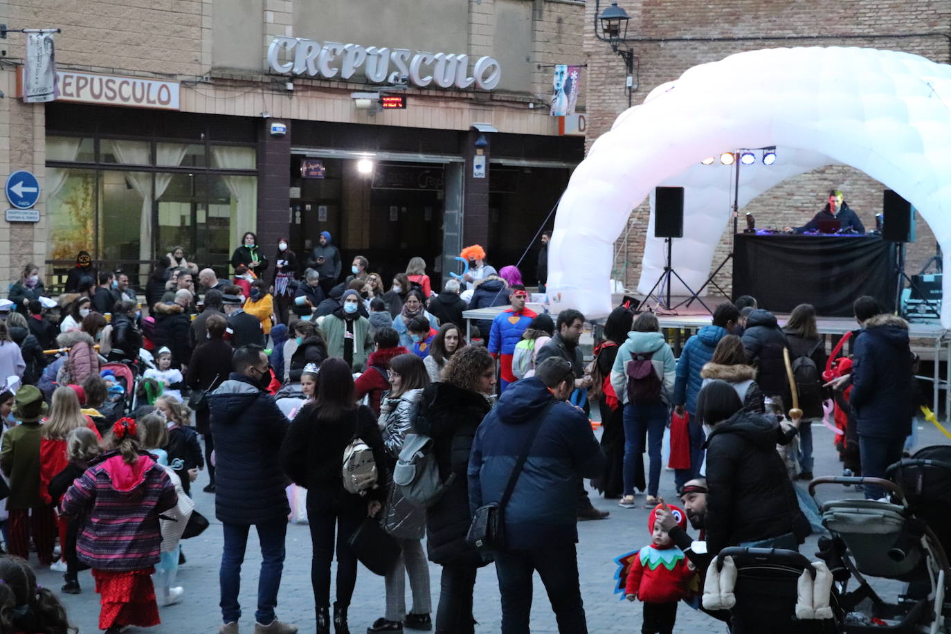
[[[515,462],[552,399],[544,383],[534,376],[524,378],[513,383],[482,420],[469,457],[470,509],[502,499]],[[604,462],[585,414],[555,403],[505,509],[507,548],[576,543],[578,478],[598,475]]]

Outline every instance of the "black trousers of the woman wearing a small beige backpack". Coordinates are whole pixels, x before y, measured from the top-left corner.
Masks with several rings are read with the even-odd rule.
[[[314,554],[310,583],[314,605],[330,606],[330,565],[334,561],[336,528],[337,604],[350,605],[357,585],[357,555],[347,543],[366,516],[366,503],[356,495],[330,488],[307,490],[307,521]]]

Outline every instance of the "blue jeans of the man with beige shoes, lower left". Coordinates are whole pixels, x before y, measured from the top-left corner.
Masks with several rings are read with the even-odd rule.
[[[224,551],[219,578],[222,586],[222,618],[224,623],[241,619],[241,565],[247,549],[247,534],[251,525],[223,524]],[[261,542],[261,573],[258,577],[258,610],[255,620],[267,625],[274,621],[274,608],[278,605],[278,590],[281,588],[281,572],[284,569],[284,537],[287,534],[287,519],[281,518],[267,524],[255,524]]]

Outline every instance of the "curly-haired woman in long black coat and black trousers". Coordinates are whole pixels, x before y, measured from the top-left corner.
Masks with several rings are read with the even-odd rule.
[[[466,471],[469,451],[482,418],[492,409],[495,359],[481,346],[456,351],[442,371],[442,381],[423,390],[416,419],[417,432],[431,436],[439,479],[452,482],[445,494],[426,510],[426,548],[430,561],[442,566],[437,632],[471,634],[476,570],[486,562],[466,542],[472,514]]]

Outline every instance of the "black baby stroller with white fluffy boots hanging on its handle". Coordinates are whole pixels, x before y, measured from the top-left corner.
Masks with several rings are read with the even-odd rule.
[[[724,548],[708,567],[703,605],[727,608],[732,634],[833,634],[842,611],[831,587],[825,564],[795,550]]]

